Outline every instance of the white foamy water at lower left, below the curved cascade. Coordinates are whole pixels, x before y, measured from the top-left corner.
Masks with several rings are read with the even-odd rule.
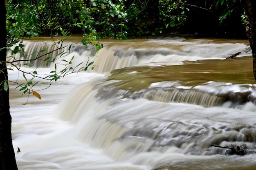
[[[118,163],[106,155],[101,149],[96,149],[77,139],[74,125],[68,121],[62,121],[54,116],[54,110],[58,102],[67,92],[82,82],[90,79],[101,78],[103,75],[96,73],[79,74],[75,77],[67,76],[65,81],[60,80],[47,91],[40,93],[42,101],[34,96],[27,98],[17,95],[15,86],[10,88],[17,95],[11,99],[12,135],[13,147],[20,148],[16,154],[18,168],[29,170],[82,170],[82,169],[112,169],[139,168],[131,163]],[[16,72],[9,73],[9,79],[16,79]],[[65,89],[65,90],[64,90]],[[64,90],[64,91],[63,91]]]

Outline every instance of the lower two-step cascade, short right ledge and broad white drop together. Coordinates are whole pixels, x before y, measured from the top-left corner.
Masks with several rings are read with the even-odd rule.
[[[243,118],[242,113],[248,104],[256,109],[254,85],[208,82],[182,89],[178,82],[161,82],[132,91],[120,82],[110,76],[78,86],[56,108],[75,125],[79,140],[104,148],[114,159],[173,147],[184,154],[216,154],[222,150],[210,150],[210,144],[226,146],[232,141],[254,148],[254,126],[230,119],[233,115],[239,121],[253,120],[253,115]],[[233,108],[239,110],[237,115]]]

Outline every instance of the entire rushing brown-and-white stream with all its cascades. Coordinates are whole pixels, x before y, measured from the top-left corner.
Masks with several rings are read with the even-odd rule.
[[[27,102],[10,84],[19,170],[256,169],[256,84],[246,40],[104,40],[95,56],[71,41],[67,60],[75,55],[75,66],[90,58],[94,70],[38,91],[42,100]],[[46,38],[25,44],[27,54],[52,46]],[[34,65],[38,73],[54,67]],[[24,81],[17,71],[9,79]],[[240,146],[245,155],[211,145]]]

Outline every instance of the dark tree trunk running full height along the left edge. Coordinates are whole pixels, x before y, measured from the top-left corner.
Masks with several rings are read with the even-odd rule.
[[[6,47],[6,8],[5,0],[0,0],[0,49]],[[0,51],[0,61],[6,60],[6,48]],[[18,170],[11,139],[11,115],[9,90],[4,91],[7,80],[6,64],[0,63],[0,170]]]

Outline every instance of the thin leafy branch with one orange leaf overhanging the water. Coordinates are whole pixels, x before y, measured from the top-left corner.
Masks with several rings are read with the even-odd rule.
[[[46,48],[40,51],[36,51],[33,54],[26,55],[24,53],[24,44],[22,41],[15,40],[10,44],[8,44],[7,51],[9,51],[11,56],[8,56],[6,61],[0,61],[0,62],[1,64],[3,63],[9,64],[10,66],[7,69],[11,71],[13,71],[14,69],[17,69],[18,71],[22,72],[23,78],[25,79],[25,83],[19,84],[18,82],[13,82],[18,85],[17,88],[19,88],[19,90],[22,91],[22,94],[32,93],[37,98],[41,99],[40,94],[33,90],[34,86],[36,86],[37,84],[49,84],[49,86],[51,86],[52,82],[56,82],[58,79],[65,77],[66,75],[70,75],[72,73],[78,73],[80,71],[87,71],[88,68],[94,63],[93,61],[90,62],[88,58],[87,62],[81,61],[81,63],[77,64],[76,66],[72,66],[72,61],[74,60],[75,56],[73,56],[70,60],[66,59],[66,56],[70,55],[70,53],[72,52],[70,51],[72,44],[66,44],[65,46],[63,46],[64,41],[67,40],[66,35],[68,31],[64,31],[63,29],[61,29],[61,31],[63,36],[61,40],[54,42],[54,44],[52,45],[57,47],[54,50],[51,50],[52,48],[49,48],[49,49]],[[96,49],[95,49],[96,52],[101,49],[97,47],[99,46],[99,44],[95,44],[95,46],[96,46]],[[63,50],[63,49],[67,49],[67,50]],[[57,55],[54,55],[55,51],[58,51]],[[42,54],[42,52],[46,52],[46,53]],[[19,54],[20,57],[18,58],[15,57],[15,54]],[[50,55],[51,57],[45,58],[44,57],[45,55],[47,56]],[[30,56],[30,57],[27,57],[27,56]],[[46,66],[49,66],[49,64],[54,64],[54,70],[47,75],[39,74],[37,72],[38,66],[34,65],[34,61],[36,60],[41,60],[45,62]],[[64,66],[64,68],[59,70],[58,65],[61,65],[62,67]],[[23,66],[34,66],[34,71],[27,72],[23,69]],[[91,69],[93,69],[93,67]],[[43,82],[36,80],[36,78],[43,79]],[[8,90],[7,82],[8,82],[7,78],[2,82],[5,91]],[[40,90],[43,90],[43,89],[40,89]]]

